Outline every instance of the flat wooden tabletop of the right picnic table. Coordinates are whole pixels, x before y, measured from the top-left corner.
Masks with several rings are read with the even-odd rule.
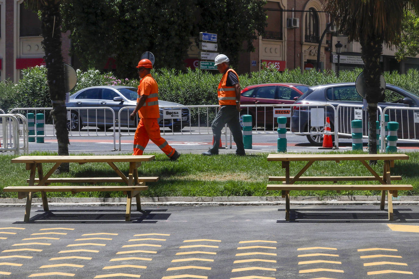
[[[268,161],[409,160],[406,154],[269,154]]]

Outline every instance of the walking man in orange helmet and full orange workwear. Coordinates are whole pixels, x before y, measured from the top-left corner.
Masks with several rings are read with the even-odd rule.
[[[137,131],[135,131],[134,153],[132,155],[142,155],[149,139],[151,139],[171,161],[176,161],[181,154],[160,136],[160,126],[157,123],[157,119],[160,117],[158,85],[150,74],[153,64],[149,59],[142,59],[138,62],[137,68],[141,81],[137,91],[137,106],[129,115],[129,119],[134,120],[137,112],[141,119],[138,123]]]

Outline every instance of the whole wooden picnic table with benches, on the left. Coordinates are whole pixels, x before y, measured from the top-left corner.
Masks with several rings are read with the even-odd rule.
[[[31,213],[32,197],[35,192],[41,192],[42,205],[45,211],[49,211],[47,192],[106,192],[123,191],[127,195],[127,207],[125,211],[125,220],[130,220],[131,201],[136,197],[137,210],[141,211],[140,191],[147,190],[145,182],[157,181],[158,177],[138,177],[138,167],[141,162],[154,160],[154,155],[75,155],[75,156],[20,156],[12,159],[12,163],[25,163],[26,169],[30,170],[30,176],[27,180],[28,186],[8,186],[4,187],[5,192],[18,192],[18,198],[26,197],[26,209],[24,221],[28,222]],[[58,166],[62,163],[107,163],[116,172],[119,177],[62,177],[50,178]],[[128,177],[115,165],[116,162],[128,162]],[[54,163],[54,166],[44,175],[42,164]],[[38,174],[38,178],[36,177]],[[51,183],[88,183],[96,184],[102,182],[124,182],[127,185],[122,186],[50,186]]]

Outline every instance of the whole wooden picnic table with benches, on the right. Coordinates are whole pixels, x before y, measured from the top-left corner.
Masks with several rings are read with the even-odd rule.
[[[385,192],[388,200],[388,219],[393,220],[393,196],[397,197],[398,190],[412,190],[412,185],[391,184],[391,180],[401,180],[401,176],[391,176],[390,169],[394,166],[395,160],[408,160],[406,154],[269,154],[268,161],[281,161],[285,169],[285,176],[269,177],[269,181],[282,181],[283,184],[268,184],[267,190],[282,191],[285,197],[285,219],[290,220],[290,191],[293,190],[380,190],[380,209],[384,210]],[[383,160],[383,175],[377,174],[367,163],[369,160]],[[290,176],[290,161],[308,161],[307,164],[295,175]],[[373,176],[306,176],[304,172],[316,161],[360,161]],[[371,181],[376,180],[381,184],[294,184],[298,181]]]

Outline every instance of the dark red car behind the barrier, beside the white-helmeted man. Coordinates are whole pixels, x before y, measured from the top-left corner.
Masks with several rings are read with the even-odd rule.
[[[242,115],[252,115],[253,126],[272,127],[274,118],[272,107],[255,107],[246,105],[284,105],[293,104],[301,95],[308,90],[308,85],[299,83],[267,83],[249,85],[241,90],[240,105],[240,124],[243,126]],[[257,123],[256,123],[257,116]],[[276,119],[275,119],[276,121]]]

